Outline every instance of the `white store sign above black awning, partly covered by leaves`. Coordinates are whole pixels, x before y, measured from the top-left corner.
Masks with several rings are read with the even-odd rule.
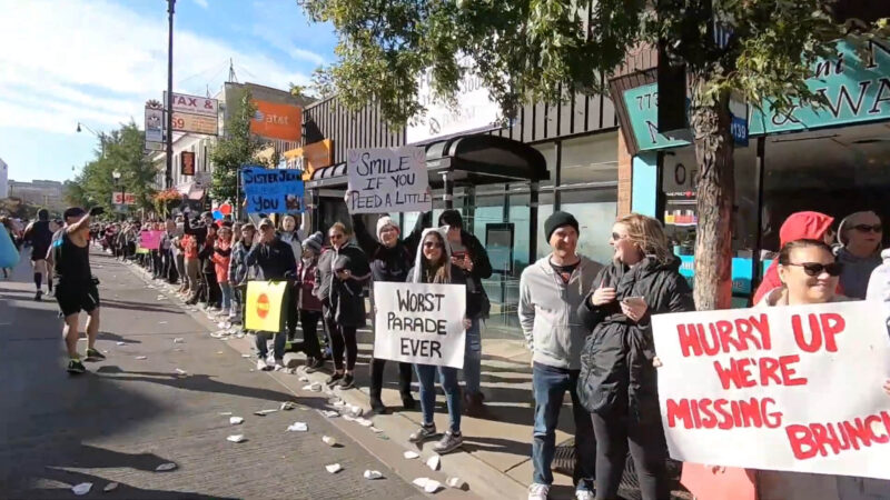
[[[473,63],[464,58],[461,64],[469,68]],[[406,128],[407,143],[497,127],[501,107],[492,99],[482,78],[472,70],[464,72],[459,90],[454,96],[454,107],[436,99],[429,71],[421,76],[417,83],[417,97],[426,113],[415,117],[415,122]]]

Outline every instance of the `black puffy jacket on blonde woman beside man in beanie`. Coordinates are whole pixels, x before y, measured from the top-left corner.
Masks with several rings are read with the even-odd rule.
[[[578,398],[587,411],[637,422],[660,418],[650,316],[695,310],[692,289],[679,269],[676,258],[668,263],[645,258],[633,268],[613,262],[596,274],[594,289],[615,288],[616,297],[614,302],[594,307],[591,292],[578,307],[582,323],[592,330],[577,381]],[[640,323],[621,312],[619,302],[627,297],[643,297],[649,304]]]

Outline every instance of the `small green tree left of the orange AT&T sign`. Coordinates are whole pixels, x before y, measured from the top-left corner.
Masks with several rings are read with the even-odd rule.
[[[210,196],[215,200],[234,200],[237,194],[238,171],[245,164],[256,162],[255,157],[264,144],[250,133],[250,120],[257,112],[249,90],[244,90],[238,106],[231,110],[226,121],[226,134],[220,138],[212,151],[214,181]]]

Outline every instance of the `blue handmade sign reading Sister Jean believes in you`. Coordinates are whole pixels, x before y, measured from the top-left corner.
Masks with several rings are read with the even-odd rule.
[[[241,169],[247,213],[301,213],[306,208],[301,173],[293,169]]]

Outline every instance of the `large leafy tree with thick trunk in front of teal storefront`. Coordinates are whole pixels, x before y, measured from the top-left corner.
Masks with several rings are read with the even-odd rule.
[[[527,100],[554,103],[574,92],[605,93],[610,74],[640,46],[666,48],[691,87],[690,127],[699,162],[695,302],[731,306],[734,202],[730,96],[784,111],[814,103],[810,68],[833,40],[887,33],[837,21],[832,0],[298,0],[315,21],[338,33],[330,68],[338,97],[358,109],[379,103],[404,126],[423,113],[418,76],[453,99],[475,71],[506,116]],[[590,6],[590,8],[578,6]],[[656,4],[657,8],[653,8]],[[731,32],[718,44],[713,27]],[[465,61],[471,61],[467,64]],[[768,110],[769,111],[769,110]]]

